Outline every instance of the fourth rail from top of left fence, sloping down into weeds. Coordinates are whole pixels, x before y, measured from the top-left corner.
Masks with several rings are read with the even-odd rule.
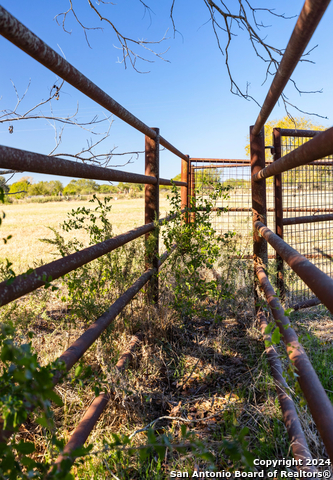
[[[168,256],[173,253],[176,245],[174,245],[170,252],[165,252],[158,262],[158,268],[165,262]],[[156,274],[155,268],[151,268],[143,273],[133,285],[126,290],[112,305],[111,307],[103,313],[88,329],[83,332],[83,334],[74,342],[72,345],[56,360],[61,366],[65,366],[65,371],[63,368],[60,370],[55,370],[53,372],[53,385],[61,380],[65,375],[65,372],[68,372],[80,358],[85,354],[85,352],[91,347],[91,345],[100,337],[100,335],[106,330],[107,327],[111,325],[113,320],[119,315],[119,313],[126,307],[126,305],[135,297],[135,295],[145,286],[145,284],[150,280],[150,278]],[[29,408],[27,407],[29,410]],[[31,410],[30,410],[31,411]],[[3,430],[3,423],[0,422],[0,443],[6,442],[12,435],[12,431]]]

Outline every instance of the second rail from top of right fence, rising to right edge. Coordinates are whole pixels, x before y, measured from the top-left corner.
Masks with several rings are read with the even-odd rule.
[[[333,153],[333,127],[318,133],[315,137],[300,147],[292,150],[287,155],[279,158],[267,167],[253,175],[253,180],[258,182],[263,178],[269,178],[279,173],[287,172],[292,168],[307,165],[314,160],[327,157]]]

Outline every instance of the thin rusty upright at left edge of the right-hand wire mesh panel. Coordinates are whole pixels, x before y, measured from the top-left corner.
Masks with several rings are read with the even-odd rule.
[[[274,161],[281,158],[281,131],[273,128]],[[283,205],[282,205],[282,175],[274,176],[274,208],[275,208],[275,233],[283,239]],[[285,300],[285,286],[283,278],[283,259],[276,252],[277,287],[280,291],[281,300]]]

